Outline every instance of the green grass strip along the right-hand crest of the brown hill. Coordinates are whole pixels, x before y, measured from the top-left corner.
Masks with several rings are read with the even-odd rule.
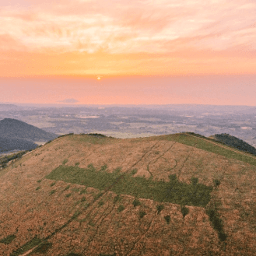
[[[179,143],[182,143],[182,144],[185,144],[188,146],[194,146],[198,149],[203,149],[205,151],[209,151],[209,152],[221,155],[221,156],[225,156],[226,158],[240,160],[245,163],[250,163],[250,164],[256,166],[256,158],[254,158],[254,157],[246,156],[246,155],[244,155],[244,153],[234,152],[233,149],[231,149],[231,148],[230,149],[223,148],[223,147],[221,147],[221,146],[223,146],[223,144],[216,142],[216,141],[212,141],[211,139],[207,139],[207,138],[203,137],[202,135],[194,134],[194,136],[196,136],[196,137],[192,137],[192,136],[186,135],[186,134],[176,134],[176,135],[167,135],[167,136],[164,136],[163,138],[170,140],[170,141],[179,142]],[[204,139],[209,140],[209,142],[205,141]],[[212,144],[212,142],[219,144],[219,146]],[[226,146],[226,147],[228,147],[228,146]]]

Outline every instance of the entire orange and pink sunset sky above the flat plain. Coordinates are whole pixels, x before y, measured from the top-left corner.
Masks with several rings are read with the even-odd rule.
[[[255,17],[255,0],[1,0],[0,102],[256,105]]]

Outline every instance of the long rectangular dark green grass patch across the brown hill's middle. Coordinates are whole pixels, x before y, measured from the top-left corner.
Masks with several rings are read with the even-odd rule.
[[[147,180],[144,177],[132,177],[119,170],[113,173],[97,171],[92,165],[86,169],[60,166],[47,175],[47,179],[81,184],[103,191],[113,191],[117,195],[133,195],[136,198],[148,198],[156,202],[171,202],[179,205],[195,205],[205,207],[210,198],[212,187],[204,184],[186,184],[170,176],[169,182]],[[119,198],[114,199],[117,202]]]

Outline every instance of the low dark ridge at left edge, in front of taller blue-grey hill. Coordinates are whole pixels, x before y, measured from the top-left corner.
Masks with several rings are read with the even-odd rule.
[[[0,137],[0,153],[13,150],[30,150],[37,148],[37,144],[25,139],[5,139]]]

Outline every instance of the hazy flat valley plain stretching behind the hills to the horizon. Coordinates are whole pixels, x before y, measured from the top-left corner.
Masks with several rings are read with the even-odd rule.
[[[56,135],[102,133],[115,138],[195,132],[227,133],[256,146],[256,107],[214,105],[0,105],[0,120],[15,118]]]

